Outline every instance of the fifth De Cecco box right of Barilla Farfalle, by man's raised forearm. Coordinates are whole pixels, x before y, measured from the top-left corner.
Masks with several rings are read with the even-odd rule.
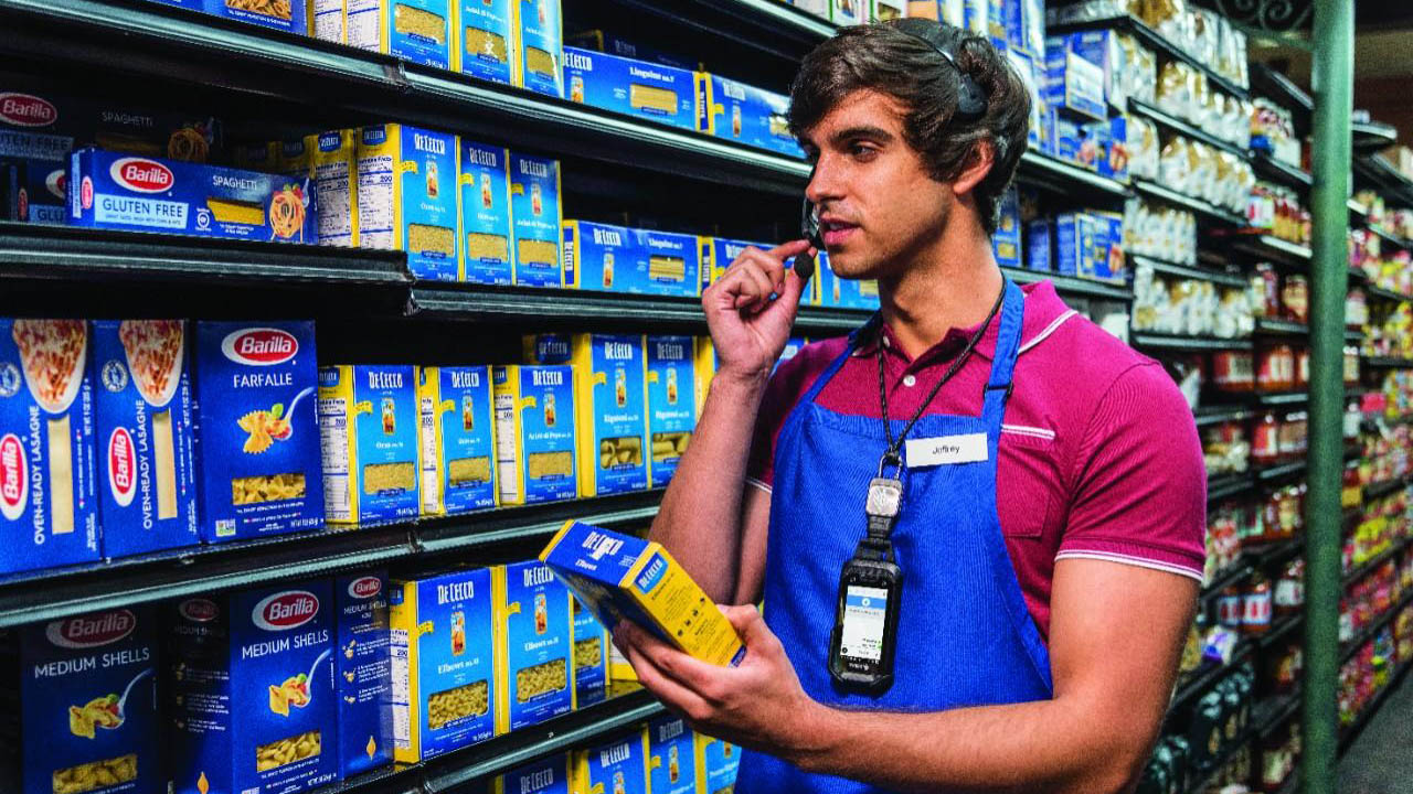
[[[691,336],[646,339],[650,487],[667,487],[697,428],[695,342]]]

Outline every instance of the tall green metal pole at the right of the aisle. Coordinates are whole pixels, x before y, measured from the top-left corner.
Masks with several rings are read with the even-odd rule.
[[[1310,492],[1306,503],[1306,794],[1335,794],[1340,750],[1340,598],[1344,469],[1344,300],[1349,275],[1349,116],[1354,0],[1316,0],[1314,261],[1310,300]]]

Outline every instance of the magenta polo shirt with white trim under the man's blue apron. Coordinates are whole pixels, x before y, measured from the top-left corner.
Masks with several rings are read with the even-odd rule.
[[[1000,434],[996,503],[1026,605],[1048,639],[1058,559],[1105,559],[1202,579],[1207,472],[1193,413],[1161,365],[1065,307],[1051,283],[1022,291],[1026,312]],[[981,415],[999,325],[992,321],[927,414]],[[889,415],[911,417],[975,332],[954,328],[910,360],[885,326]],[[786,417],[846,346],[842,338],[814,342],[771,376],[747,466],[756,487],[771,486]],[[820,405],[882,417],[876,350],[863,345],[820,393]],[[872,459],[883,449],[859,454]],[[862,504],[861,493],[859,510]]]

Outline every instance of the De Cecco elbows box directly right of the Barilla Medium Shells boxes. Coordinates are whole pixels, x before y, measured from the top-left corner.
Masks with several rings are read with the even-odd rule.
[[[418,763],[496,735],[490,569],[393,581],[393,756]]]

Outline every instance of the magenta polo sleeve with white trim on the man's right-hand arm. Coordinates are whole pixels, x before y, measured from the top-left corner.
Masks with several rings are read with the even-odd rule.
[[[1056,559],[1091,558],[1202,581],[1207,469],[1177,384],[1156,362],[1109,386],[1075,455]]]

